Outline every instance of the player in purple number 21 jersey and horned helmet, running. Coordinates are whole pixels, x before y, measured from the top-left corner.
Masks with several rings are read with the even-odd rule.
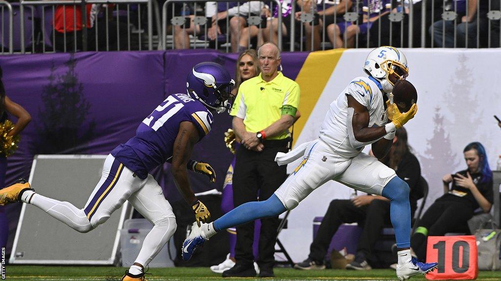
[[[104,162],[103,175],[83,208],[35,193],[25,179],[0,190],[0,204],[22,201],[35,205],[79,232],[89,232],[104,223],[128,200],[152,224],[134,264],[122,280],[145,280],[144,267],[167,243],[176,229],[172,207],[162,188],[148,172],[171,163],[174,182],[193,206],[195,219],[207,222],[210,213],[190,188],[187,170],[209,176],[212,167],[190,160],[193,146],[212,126],[211,111],[231,107],[234,86],[228,71],[214,62],[195,65],[186,81],[187,93],[169,95],[138,126],[136,135],[111,151]]]

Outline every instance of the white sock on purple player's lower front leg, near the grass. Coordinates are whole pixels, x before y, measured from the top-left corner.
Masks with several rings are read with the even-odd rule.
[[[135,262],[142,264],[144,267],[160,252],[163,246],[169,241],[170,236],[176,231],[176,219],[173,217],[162,217],[158,221],[153,222],[155,225],[144,238],[143,246],[135,260]],[[136,274],[131,271],[129,272]]]

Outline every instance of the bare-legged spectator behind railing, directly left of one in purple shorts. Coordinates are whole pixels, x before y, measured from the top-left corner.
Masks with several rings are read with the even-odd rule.
[[[342,15],[349,11],[352,6],[351,0],[340,0],[337,4],[325,4],[323,1],[313,1],[313,0],[298,0],[298,5],[301,7],[301,11],[296,12],[296,20],[301,19],[301,14],[310,13],[313,15],[314,19],[310,22],[304,22],[305,39],[306,39],[306,50],[312,50],[312,33],[313,33],[313,50],[321,49],[321,34],[324,26],[334,26],[334,17],[337,22],[343,22],[344,19]],[[325,15],[325,22],[324,22]],[[333,29],[333,27],[331,27]],[[334,34],[328,33],[329,37],[333,37]],[[331,39],[333,42],[334,40]],[[337,46],[341,47],[341,45]]]

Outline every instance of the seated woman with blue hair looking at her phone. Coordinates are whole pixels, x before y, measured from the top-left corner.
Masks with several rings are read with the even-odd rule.
[[[475,210],[489,212],[492,205],[492,171],[485,148],[475,141],[466,145],[463,153],[468,168],[443,176],[444,194],[426,210],[412,235],[412,247],[421,260],[426,258],[428,235],[443,236],[461,225],[466,228]]]

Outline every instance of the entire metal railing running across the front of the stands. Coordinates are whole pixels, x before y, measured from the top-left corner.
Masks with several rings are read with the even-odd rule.
[[[385,44],[501,47],[501,0],[0,3],[1,53],[174,48],[238,52],[265,41],[289,51]]]

